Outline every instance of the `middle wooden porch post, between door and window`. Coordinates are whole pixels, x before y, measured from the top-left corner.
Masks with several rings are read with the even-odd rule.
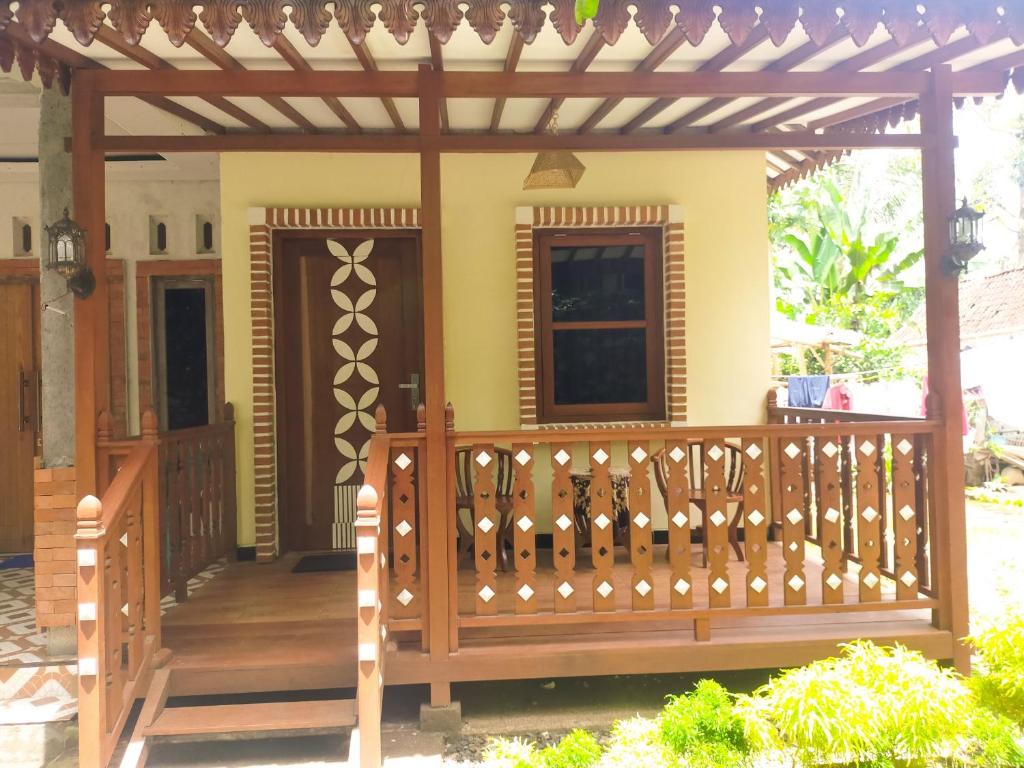
[[[441,286],[440,79],[429,65],[419,70],[420,210],[423,227],[423,345],[426,380],[427,602],[430,659],[449,655],[449,519],[444,435],[444,336]],[[451,702],[449,681],[430,684],[430,703]]]

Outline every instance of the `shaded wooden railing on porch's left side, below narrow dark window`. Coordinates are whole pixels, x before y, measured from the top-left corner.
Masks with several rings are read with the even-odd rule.
[[[164,595],[187,599],[188,580],[236,549],[234,410],[223,421],[158,435],[161,584]],[[100,414],[96,435],[102,493],[117,477],[139,438],[111,437],[111,417]]]

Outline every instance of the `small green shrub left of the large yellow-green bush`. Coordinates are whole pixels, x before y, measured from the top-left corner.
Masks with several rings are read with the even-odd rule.
[[[714,680],[671,696],[660,717],[662,740],[692,766],[740,765],[750,749],[732,696]]]

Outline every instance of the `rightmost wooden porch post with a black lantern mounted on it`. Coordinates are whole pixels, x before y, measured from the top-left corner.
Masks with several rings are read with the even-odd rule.
[[[935,623],[953,633],[953,660],[970,671],[968,634],[967,524],[964,500],[963,394],[959,366],[959,282],[947,273],[948,219],[956,207],[952,70],[936,67],[931,88],[921,99],[922,131],[933,140],[922,151],[925,216],[925,299],[928,321],[929,389],[942,403],[933,472],[937,505],[935,555],[938,558],[939,609]]]

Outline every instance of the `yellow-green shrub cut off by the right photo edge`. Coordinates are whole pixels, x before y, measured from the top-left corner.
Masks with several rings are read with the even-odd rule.
[[[980,662],[972,678],[979,700],[1024,724],[1024,613],[1001,617],[970,641]]]

